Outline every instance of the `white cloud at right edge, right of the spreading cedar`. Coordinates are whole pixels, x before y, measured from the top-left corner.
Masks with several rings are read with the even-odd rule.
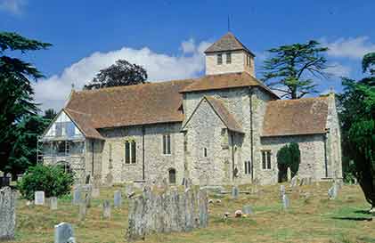
[[[368,36],[338,38],[333,42],[322,38],[321,42],[330,48],[328,55],[331,57],[362,59],[364,54],[375,52],[375,43]]]

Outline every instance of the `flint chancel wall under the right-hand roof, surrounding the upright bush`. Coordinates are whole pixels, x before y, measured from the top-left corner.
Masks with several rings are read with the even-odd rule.
[[[324,135],[298,135],[298,136],[278,136],[262,138],[261,148],[271,150],[271,170],[268,176],[260,178],[261,183],[272,184],[278,182],[279,170],[277,167],[277,152],[282,146],[290,142],[297,142],[301,152],[301,163],[298,169],[298,176],[313,177],[314,181],[325,177],[324,161]],[[266,174],[266,173],[263,173]]]

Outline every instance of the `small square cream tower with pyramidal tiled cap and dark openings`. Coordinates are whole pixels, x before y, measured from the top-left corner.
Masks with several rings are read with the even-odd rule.
[[[206,54],[206,75],[248,72],[255,77],[254,53],[233,36],[226,33],[209,46]]]

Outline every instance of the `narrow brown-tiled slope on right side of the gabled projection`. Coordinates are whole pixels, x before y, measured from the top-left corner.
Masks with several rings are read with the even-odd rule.
[[[231,131],[243,134],[242,127],[232,116],[232,114],[225,108],[222,101],[217,100],[214,97],[206,96],[205,99],[211,105],[212,109],[216,111],[216,114],[223,121],[224,125]]]

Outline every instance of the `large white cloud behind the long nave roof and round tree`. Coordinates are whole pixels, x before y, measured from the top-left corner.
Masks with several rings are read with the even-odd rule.
[[[35,83],[36,101],[42,104],[41,109],[61,109],[71,84],[81,89],[100,69],[109,67],[118,59],[143,66],[151,82],[197,77],[204,70],[203,51],[208,45],[208,42],[196,45],[192,39],[184,41],[181,47],[183,54],[177,56],[154,53],[147,47],[140,50],[123,47],[109,53],[93,53],[64,69],[61,75]]]

